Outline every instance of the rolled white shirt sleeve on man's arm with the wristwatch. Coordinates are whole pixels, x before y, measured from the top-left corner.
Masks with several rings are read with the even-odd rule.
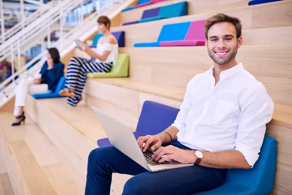
[[[254,166],[263,143],[266,124],[271,121],[274,102],[262,83],[252,86],[240,101],[241,112],[235,149]]]

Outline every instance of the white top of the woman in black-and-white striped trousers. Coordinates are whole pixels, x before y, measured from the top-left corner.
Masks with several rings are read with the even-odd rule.
[[[110,43],[97,43],[96,53],[99,55],[103,55],[104,51],[110,51],[108,58],[105,61],[101,61],[100,59],[95,59],[96,62],[112,62],[113,65],[116,63],[118,54],[119,54],[119,45],[118,44],[110,44]]]

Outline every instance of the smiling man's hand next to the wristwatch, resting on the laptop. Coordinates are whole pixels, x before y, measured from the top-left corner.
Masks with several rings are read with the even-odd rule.
[[[160,147],[154,153],[152,158],[156,161],[159,160],[159,162],[163,162],[165,160],[175,160],[181,163],[195,163],[197,160],[194,151],[182,150],[172,145]]]

